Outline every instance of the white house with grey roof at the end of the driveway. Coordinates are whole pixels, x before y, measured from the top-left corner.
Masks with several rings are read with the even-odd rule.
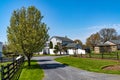
[[[53,44],[52,49],[49,48],[50,42],[52,42]],[[50,38],[50,40],[46,42],[46,47],[44,48],[43,53],[55,54],[54,47],[58,43],[60,43],[61,46],[64,46],[68,49],[66,52],[61,52],[62,54],[70,54],[70,55],[73,55],[74,53],[85,54],[85,50],[82,50],[81,45],[74,43],[73,40],[67,37],[60,37],[60,36],[53,36],[52,38]],[[60,54],[60,52],[58,52],[58,54]]]

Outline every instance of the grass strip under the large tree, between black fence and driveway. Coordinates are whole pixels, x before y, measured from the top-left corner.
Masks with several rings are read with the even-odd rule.
[[[40,65],[37,64],[37,61],[31,60],[30,67],[27,65],[27,61],[25,61],[19,80],[42,80],[43,77],[44,72]]]

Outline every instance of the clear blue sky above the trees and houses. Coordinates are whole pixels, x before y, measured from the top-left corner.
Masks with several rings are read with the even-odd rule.
[[[85,43],[102,28],[115,28],[120,33],[120,0],[0,0],[0,41],[7,41],[13,10],[31,5],[41,11],[50,36],[67,36]]]

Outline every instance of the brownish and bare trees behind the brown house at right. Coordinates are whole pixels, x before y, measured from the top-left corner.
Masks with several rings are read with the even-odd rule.
[[[98,43],[104,43],[109,40],[120,40],[120,35],[117,34],[114,28],[103,28],[86,39],[86,46],[93,49]]]

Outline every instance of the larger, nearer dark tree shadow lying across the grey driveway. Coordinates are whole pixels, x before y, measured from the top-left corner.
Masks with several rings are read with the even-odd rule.
[[[45,64],[40,64],[42,69],[56,69],[56,68],[64,68],[68,65],[66,64],[60,64],[60,63],[45,63]]]

